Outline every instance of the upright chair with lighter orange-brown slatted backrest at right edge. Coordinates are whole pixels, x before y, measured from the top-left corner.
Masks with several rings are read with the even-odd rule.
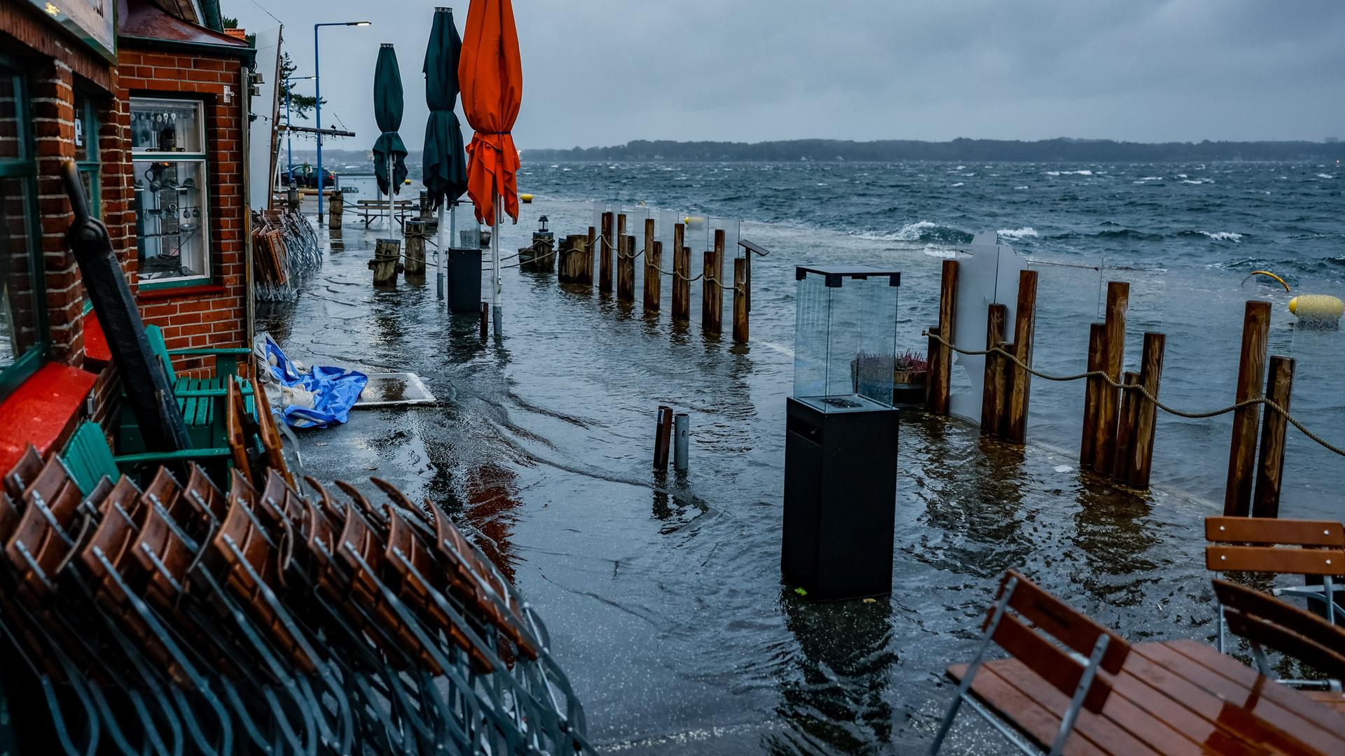
[[[1319,576],[1321,585],[1275,588],[1275,596],[1295,596],[1325,604],[1326,621],[1334,624],[1338,604],[1336,576],[1345,574],[1345,526],[1315,519],[1268,519],[1248,517],[1205,518],[1205,566],[1216,573],[1263,572]],[[1330,597],[1330,600],[1328,600]],[[1223,605],[1219,650],[1224,650]]]

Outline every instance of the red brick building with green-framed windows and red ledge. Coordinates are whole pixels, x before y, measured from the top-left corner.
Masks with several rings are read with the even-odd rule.
[[[65,241],[66,160],[168,347],[249,343],[252,48],[213,3],[71,7],[0,4],[0,469],[106,421],[121,391]]]

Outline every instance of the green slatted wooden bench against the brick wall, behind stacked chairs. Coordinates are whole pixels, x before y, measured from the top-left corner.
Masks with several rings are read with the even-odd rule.
[[[164,343],[163,331],[159,326],[145,326],[145,338],[149,339],[149,348],[159,362],[163,363],[168,374],[168,385],[172,386],[174,397],[178,400],[178,409],[187,422],[187,436],[192,448],[208,449],[225,447],[225,381],[235,379],[243,391],[243,401],[247,412],[257,414],[253,402],[252,385],[238,378],[238,358],[246,358],[252,350],[243,347],[226,348],[183,348],[169,350]],[[188,378],[178,375],[172,367],[174,356],[214,356],[215,375],[211,378]],[[125,390],[125,386],[122,387]],[[122,406],[120,428],[117,432],[117,447],[125,452],[145,451],[144,440],[140,436],[140,425],[130,408]]]

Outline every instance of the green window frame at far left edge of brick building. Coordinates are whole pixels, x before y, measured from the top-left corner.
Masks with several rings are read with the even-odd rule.
[[[15,82],[15,120],[19,126],[19,147],[23,151],[20,157],[16,159],[0,159],[0,178],[4,179],[19,179],[26,186],[26,200],[27,207],[24,209],[24,215],[27,215],[28,234],[27,254],[30,264],[30,274],[32,276],[32,296],[34,303],[34,327],[36,336],[32,346],[30,346],[22,355],[16,355],[13,362],[0,367],[0,400],[8,397],[17,389],[24,381],[27,381],[34,373],[38,371],[47,362],[47,356],[51,354],[51,332],[47,328],[47,270],[43,261],[42,248],[39,246],[39,239],[42,238],[40,226],[38,225],[38,159],[36,149],[34,147],[32,128],[32,101],[28,77],[24,74],[24,67],[12,58],[0,54],[0,75],[12,77]],[[12,254],[5,250],[5,254]],[[4,348],[13,348],[12,344],[4,344]]]

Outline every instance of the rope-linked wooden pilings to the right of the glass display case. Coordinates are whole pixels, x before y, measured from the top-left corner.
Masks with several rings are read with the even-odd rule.
[[[950,408],[954,352],[948,343],[952,343],[955,334],[956,297],[958,261],[946,260],[939,293],[939,323],[929,328],[925,409],[935,414],[947,414]],[[1162,378],[1166,336],[1146,332],[1139,370],[1123,373],[1130,284],[1108,282],[1106,301],[1103,322],[1089,326],[1088,373],[1095,375],[1087,378],[1084,389],[1079,465],[1123,486],[1147,488],[1153,474],[1158,417],[1154,400],[1158,398]],[[1036,305],[1037,272],[1022,270],[1018,274],[1014,339],[1005,340],[1007,308],[1003,304],[991,304],[986,313],[986,350],[998,347],[1030,366]],[[1280,412],[1254,400],[1264,397],[1289,412],[1294,361],[1279,355],[1267,361],[1268,338],[1270,303],[1248,301],[1243,317],[1235,401],[1251,404],[1233,410],[1224,498],[1225,515],[1278,517],[1279,514],[1289,421]],[[1122,387],[1116,387],[1108,379]],[[986,354],[982,433],[1014,444],[1026,440],[1030,382],[1032,374],[1021,365],[997,351]]]

